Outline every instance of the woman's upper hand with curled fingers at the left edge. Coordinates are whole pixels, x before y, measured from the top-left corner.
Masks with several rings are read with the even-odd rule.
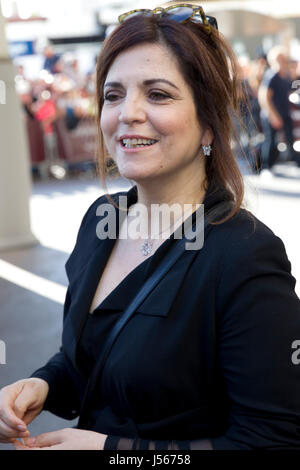
[[[42,411],[48,391],[48,383],[38,378],[18,380],[0,390],[0,442],[29,436],[27,424]]]

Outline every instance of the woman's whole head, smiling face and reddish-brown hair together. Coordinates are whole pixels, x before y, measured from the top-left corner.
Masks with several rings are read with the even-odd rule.
[[[134,181],[136,176],[148,181],[155,176],[157,189],[173,177],[179,187],[188,181],[198,199],[211,183],[227,188],[234,200],[232,216],[243,199],[242,177],[231,150],[235,70],[230,47],[215,28],[208,35],[199,22],[129,16],[118,34],[107,39],[97,67],[98,163],[104,187],[110,156],[121,176]],[[123,134],[127,139],[155,139],[155,158],[143,153],[145,147],[137,151],[137,143],[126,152]],[[212,144],[210,158],[199,158],[202,146]],[[153,178],[154,191],[152,185]]]

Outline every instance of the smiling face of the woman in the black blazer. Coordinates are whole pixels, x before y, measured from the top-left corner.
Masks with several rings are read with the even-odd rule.
[[[204,168],[201,145],[212,141],[175,56],[159,44],[132,47],[115,59],[100,126],[121,176],[137,182],[179,172],[195,176]]]

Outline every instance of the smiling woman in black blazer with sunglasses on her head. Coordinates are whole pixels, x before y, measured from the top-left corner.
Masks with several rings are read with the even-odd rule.
[[[3,440],[28,436],[17,426],[42,409],[79,416],[77,429],[24,445],[14,440],[16,448],[299,447],[295,279],[282,241],[241,209],[242,177],[230,147],[234,59],[202,9],[193,8],[124,15],[103,46],[101,143],[135,185],[100,197],[83,218],[66,263],[60,351],[0,392]],[[103,154],[100,169],[103,175]],[[208,216],[224,202],[201,249],[180,252],[174,233],[157,239],[166,224],[146,240],[126,236],[137,204],[147,209],[131,219],[140,225],[157,222],[154,204],[177,204],[172,232],[197,222],[198,210],[187,218],[184,204],[203,203]],[[98,225],[103,204],[125,216],[106,239]],[[107,353],[122,314],[166,260],[170,269]]]

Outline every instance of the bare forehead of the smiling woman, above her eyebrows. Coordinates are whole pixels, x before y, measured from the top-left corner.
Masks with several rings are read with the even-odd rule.
[[[132,79],[172,78],[184,83],[176,56],[161,44],[140,44],[121,52],[112,63],[106,82]]]

